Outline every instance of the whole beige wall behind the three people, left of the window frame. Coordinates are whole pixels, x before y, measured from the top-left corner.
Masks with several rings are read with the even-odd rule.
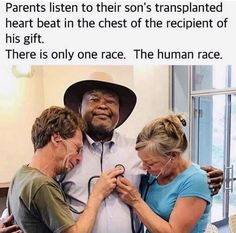
[[[0,183],[30,161],[30,129],[35,117],[51,105],[63,106],[63,94],[72,83],[97,71],[112,75],[114,82],[133,89],[138,102],[130,118],[118,128],[135,137],[149,120],[168,112],[168,66],[35,66],[33,77],[15,78],[11,69],[0,77]],[[9,79],[9,83],[5,81]],[[12,94],[7,94],[7,89]]]

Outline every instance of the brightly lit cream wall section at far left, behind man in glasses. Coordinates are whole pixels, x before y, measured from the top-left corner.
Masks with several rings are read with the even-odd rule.
[[[9,182],[15,171],[30,161],[30,130],[44,108],[43,79],[15,78],[11,70],[0,81],[0,183]]]

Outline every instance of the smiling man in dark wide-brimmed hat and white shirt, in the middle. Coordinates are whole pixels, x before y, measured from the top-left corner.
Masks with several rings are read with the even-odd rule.
[[[107,82],[106,73],[96,73],[96,78],[106,81],[85,80],[72,84],[65,92],[64,103],[85,121],[83,159],[71,172],[61,179],[67,199],[81,213],[88,192],[103,171],[117,165],[125,169],[124,175],[137,187],[143,170],[136,156],[135,141],[115,131],[123,124],[136,104],[135,93],[125,86]],[[208,167],[209,168],[209,167]],[[214,170],[214,171],[213,171]],[[223,173],[210,169],[215,191]],[[94,233],[134,232],[130,209],[112,192],[100,206]],[[75,216],[78,217],[78,216]]]

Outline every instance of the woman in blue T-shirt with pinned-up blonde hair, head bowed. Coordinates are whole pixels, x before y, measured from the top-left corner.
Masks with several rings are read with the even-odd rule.
[[[120,198],[133,208],[146,232],[200,233],[207,225],[211,191],[206,173],[183,157],[188,146],[184,126],[181,114],[171,114],[138,135],[136,150],[150,174],[141,187],[143,198],[125,177],[117,181]]]

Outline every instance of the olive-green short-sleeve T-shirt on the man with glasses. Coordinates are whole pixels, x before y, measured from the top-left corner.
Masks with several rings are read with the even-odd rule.
[[[16,173],[7,205],[24,233],[61,233],[75,224],[58,183],[28,166]]]

